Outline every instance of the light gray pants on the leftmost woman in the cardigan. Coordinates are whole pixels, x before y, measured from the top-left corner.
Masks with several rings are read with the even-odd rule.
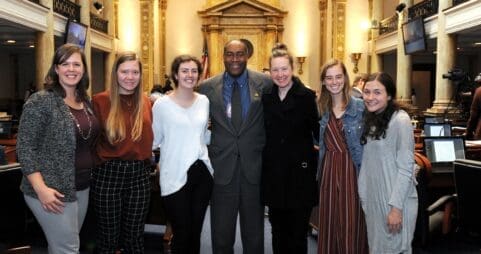
[[[38,199],[23,196],[47,238],[48,253],[79,253],[79,233],[87,213],[89,189],[77,191],[77,201],[65,202],[62,214],[46,212]]]

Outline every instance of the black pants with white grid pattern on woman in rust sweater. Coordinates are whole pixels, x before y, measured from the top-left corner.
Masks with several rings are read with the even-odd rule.
[[[150,164],[108,161],[92,171],[97,216],[97,251],[144,253],[144,227],[150,204]]]

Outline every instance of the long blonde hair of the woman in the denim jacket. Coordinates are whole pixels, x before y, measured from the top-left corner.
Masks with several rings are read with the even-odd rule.
[[[346,66],[344,65],[343,62],[337,59],[331,59],[327,61],[324,64],[324,66],[322,66],[321,86],[319,87],[319,99],[317,100],[317,105],[319,106],[319,112],[321,113],[321,116],[325,112],[328,112],[329,110],[331,110],[333,106],[331,94],[329,93],[326,86],[324,85],[324,79],[326,78],[327,70],[336,65],[339,65],[341,67],[342,73],[344,74],[344,88],[342,89],[344,107],[346,107],[347,104],[349,104],[349,101],[351,99],[351,96],[349,94],[349,89],[350,89],[349,75],[347,74]]]

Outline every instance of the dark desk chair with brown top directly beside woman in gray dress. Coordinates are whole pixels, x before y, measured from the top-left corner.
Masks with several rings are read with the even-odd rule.
[[[426,246],[431,233],[441,227],[443,235],[451,231],[451,218],[454,209],[455,195],[445,195],[430,204],[428,184],[432,177],[432,165],[429,159],[421,153],[414,153],[416,161],[416,180],[418,184],[418,216],[414,242],[420,246]]]

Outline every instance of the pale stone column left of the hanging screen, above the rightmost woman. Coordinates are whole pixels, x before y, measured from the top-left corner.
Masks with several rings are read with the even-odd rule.
[[[397,30],[397,101],[401,104],[411,104],[411,74],[412,60],[411,56],[404,52],[404,41],[402,34],[402,24],[408,21],[408,6],[412,5],[412,0],[401,0],[399,4],[406,4],[406,8],[398,13],[398,30]]]

